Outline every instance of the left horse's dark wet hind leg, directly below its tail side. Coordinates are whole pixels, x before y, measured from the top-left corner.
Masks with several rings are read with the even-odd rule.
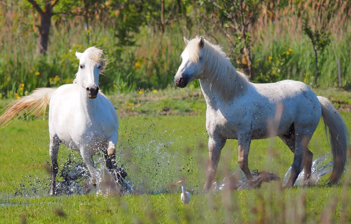
[[[57,156],[59,154],[59,148],[61,145],[61,140],[57,136],[57,134],[54,134],[53,137],[50,138],[50,149],[49,149],[49,155],[51,159],[51,187],[50,187],[50,195],[55,194],[55,186],[56,186],[56,175],[59,170],[59,166],[57,164]]]

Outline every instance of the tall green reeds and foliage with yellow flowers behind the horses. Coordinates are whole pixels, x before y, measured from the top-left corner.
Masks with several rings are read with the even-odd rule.
[[[173,77],[180,65],[179,55],[185,47],[183,36],[193,38],[195,35],[207,33],[217,20],[214,15],[221,20],[217,21],[217,26],[206,38],[211,39],[212,43],[218,41],[223,50],[229,53],[233,66],[238,69],[247,63],[245,57],[239,58],[241,50],[245,45],[251,46],[251,66],[257,75],[254,82],[294,79],[304,81],[308,85],[314,84],[316,66],[311,40],[308,35],[300,34],[299,26],[304,27],[301,21],[292,22],[298,24],[296,28],[284,23],[286,19],[290,20],[290,14],[276,18],[274,24],[268,22],[267,27],[258,27],[258,31],[248,29],[250,32],[247,32],[246,38],[243,39],[240,32],[230,28],[231,25],[235,26],[235,19],[226,17],[225,14],[237,12],[240,1],[218,1],[220,7],[231,4],[234,7],[227,7],[225,10],[219,10],[213,5],[213,1],[203,1],[202,7],[198,7],[193,1],[181,1],[181,13],[178,13],[178,1],[165,0],[164,16],[165,20],[168,20],[163,34],[159,32],[160,1],[110,0],[95,3],[91,2],[88,9],[90,43],[87,44],[83,17],[55,14],[48,55],[42,57],[34,56],[38,36],[33,31],[36,30],[33,26],[38,25],[39,21],[37,13],[31,11],[31,4],[27,1],[18,1],[18,4],[14,1],[1,1],[0,13],[4,16],[0,16],[0,96],[14,98],[29,94],[38,87],[71,83],[78,65],[74,52],[82,52],[95,45],[102,47],[108,58],[107,71],[100,75],[99,83],[104,92],[126,93],[173,86]],[[274,7],[282,10],[278,14],[286,11],[286,1],[279,1],[275,6],[277,2],[268,0],[260,2],[259,5],[255,5],[256,3],[245,2],[247,6],[251,4],[250,7],[256,7],[258,11],[263,6],[267,7],[267,15],[271,15]],[[81,1],[62,0],[55,5],[54,13],[69,10],[70,13],[82,13],[83,7]],[[245,7],[243,11],[245,24],[249,22],[247,19],[253,17],[250,13],[254,11],[250,7]],[[201,17],[198,18],[198,15]],[[241,18],[240,13],[237,16],[238,19]],[[260,22],[263,20],[264,18],[260,18]],[[331,21],[335,23],[335,20]],[[320,86],[334,86],[337,83],[337,58],[341,60],[343,85],[347,81],[350,83],[351,30],[347,25],[348,21],[350,20],[346,17],[340,32],[331,32],[330,27],[320,32],[306,29],[320,52],[318,64],[323,74],[318,78]],[[200,26],[199,22],[203,25]],[[223,27],[220,27],[222,25]],[[230,38],[222,28],[226,32],[232,32]],[[266,35],[262,35],[263,32]],[[293,51],[286,54],[289,48]],[[189,87],[198,88],[199,82],[196,80],[189,84]]]

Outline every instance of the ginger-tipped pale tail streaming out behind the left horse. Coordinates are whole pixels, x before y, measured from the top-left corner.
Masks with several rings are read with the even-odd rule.
[[[25,111],[29,115],[45,111],[56,90],[57,88],[38,88],[31,95],[21,97],[7,105],[4,109],[5,113],[0,117],[0,128],[8,125],[14,117],[21,116],[24,109],[27,109]]]

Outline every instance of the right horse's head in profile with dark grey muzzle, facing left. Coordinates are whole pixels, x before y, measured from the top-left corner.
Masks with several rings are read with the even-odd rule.
[[[180,88],[184,88],[191,81],[201,78],[201,71],[204,64],[204,38],[197,37],[187,40],[184,37],[184,42],[187,46],[180,56],[183,61],[178,68],[177,74],[174,76],[174,83]]]

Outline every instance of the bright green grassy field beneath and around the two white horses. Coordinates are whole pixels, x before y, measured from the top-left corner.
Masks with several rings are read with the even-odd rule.
[[[316,92],[332,99],[351,127],[351,94],[334,89]],[[198,89],[144,91],[111,95],[110,99],[120,117],[120,163],[126,163],[133,185],[144,193],[107,198],[94,193],[47,196],[47,119],[18,121],[0,130],[0,223],[351,222],[348,184],[282,190],[272,182],[264,183],[261,189],[201,193],[208,136],[206,106]],[[0,107],[8,102],[1,101]],[[227,141],[217,172],[218,182],[239,168],[237,148],[236,140]],[[266,170],[283,178],[293,154],[278,138],[273,139],[273,153],[268,148],[267,139],[252,141],[250,169]],[[314,158],[330,152],[323,123],[309,149]],[[79,153],[61,146],[60,169],[69,154],[81,161]],[[180,186],[175,183],[181,178],[192,194],[189,205],[180,202]],[[148,194],[150,191],[159,193]]]

